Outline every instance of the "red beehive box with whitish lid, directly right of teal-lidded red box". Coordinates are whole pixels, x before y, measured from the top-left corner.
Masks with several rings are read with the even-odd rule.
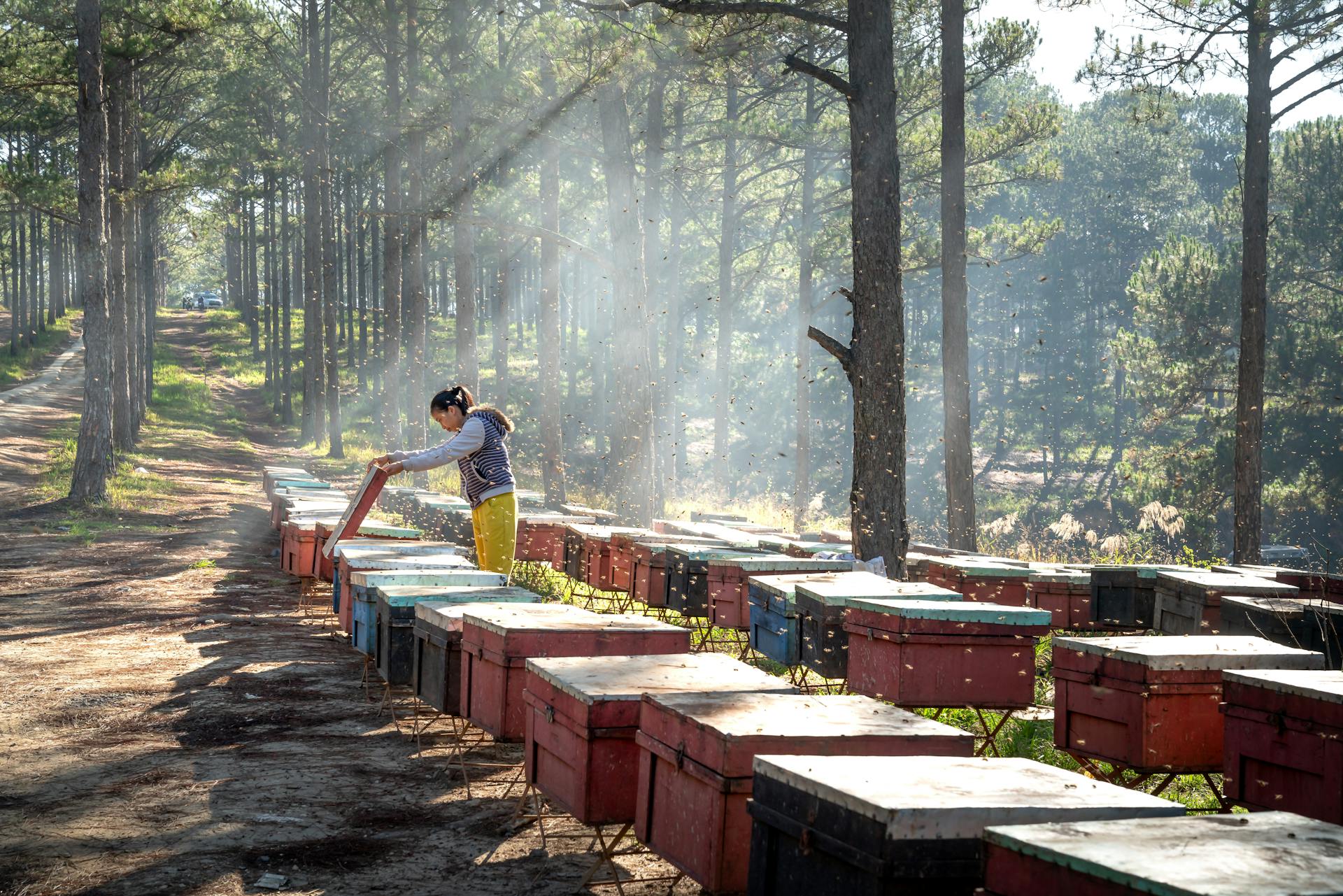
[[[1264,638],[1056,638],[1054,744],[1138,770],[1222,768],[1222,672],[1319,669]]]

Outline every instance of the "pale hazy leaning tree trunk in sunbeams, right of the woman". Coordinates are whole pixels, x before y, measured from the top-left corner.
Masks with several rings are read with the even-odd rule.
[[[602,120],[602,171],[606,175],[607,220],[611,227],[614,329],[611,345],[615,391],[612,422],[612,493],[616,512],[639,524],[653,517],[653,392],[649,383],[647,283],[643,278],[643,236],[634,193],[634,152],[624,91],[607,86],[598,102]]]

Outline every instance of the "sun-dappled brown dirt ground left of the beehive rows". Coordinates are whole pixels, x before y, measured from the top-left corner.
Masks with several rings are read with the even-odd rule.
[[[195,369],[200,326],[161,333]],[[266,872],[301,893],[573,892],[587,838],[543,848],[510,821],[512,771],[475,772],[467,799],[442,750],[416,754],[365,699],[359,654],[297,611],[259,469],[305,458],[255,392],[211,372],[255,450],[208,431],[164,449],[146,466],[184,486],[171,512],[126,512],[87,547],[58,532],[68,508],[30,492],[81,373],[40,402],[0,394],[0,893],[252,893]]]

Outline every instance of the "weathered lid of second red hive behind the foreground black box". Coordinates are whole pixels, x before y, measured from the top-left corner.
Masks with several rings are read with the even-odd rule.
[[[778,676],[721,653],[669,653],[639,657],[548,657],[528,660],[529,672],[588,705],[638,700],[645,693],[716,692],[796,693]]]

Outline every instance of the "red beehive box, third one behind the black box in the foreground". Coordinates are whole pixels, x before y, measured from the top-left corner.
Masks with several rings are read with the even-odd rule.
[[[565,604],[567,606],[567,604]],[[462,617],[462,715],[494,735],[526,735],[526,661],[536,657],[615,657],[689,653],[690,631],[643,617],[577,607],[545,618],[498,607]]]

